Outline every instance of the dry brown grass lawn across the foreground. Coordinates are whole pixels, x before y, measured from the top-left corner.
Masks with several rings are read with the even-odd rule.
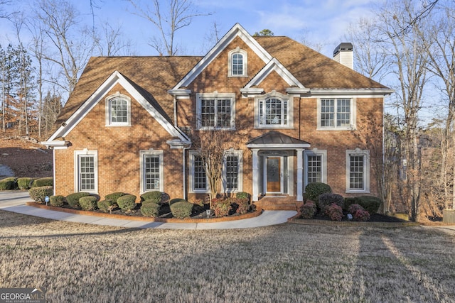
[[[454,302],[455,235],[129,229],[0,211],[0,287],[43,287],[49,302]]]

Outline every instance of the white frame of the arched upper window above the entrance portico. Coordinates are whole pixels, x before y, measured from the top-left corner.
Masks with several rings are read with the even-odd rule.
[[[287,103],[287,121],[286,124],[283,123],[284,119],[282,119],[281,124],[265,124],[265,104],[268,99],[279,99],[283,102]],[[263,104],[263,113],[264,116],[261,116],[261,102]],[[283,108],[282,108],[283,110]],[[284,115],[284,114],[282,114]],[[276,91],[272,91],[269,94],[264,94],[262,96],[255,98],[255,128],[293,128],[294,127],[294,98],[281,94]]]

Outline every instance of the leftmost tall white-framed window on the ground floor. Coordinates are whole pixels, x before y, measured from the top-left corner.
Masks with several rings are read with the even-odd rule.
[[[96,150],[75,151],[75,192],[98,192]]]

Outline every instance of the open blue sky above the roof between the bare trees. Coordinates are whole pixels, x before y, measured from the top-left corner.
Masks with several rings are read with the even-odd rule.
[[[81,13],[91,22],[90,0],[73,0]],[[150,0],[137,0],[150,1]],[[181,55],[204,55],[208,50],[208,36],[216,21],[220,35],[240,23],[249,33],[264,28],[274,35],[287,35],[299,42],[304,38],[309,44],[323,44],[321,53],[331,57],[333,49],[344,42],[350,22],[368,16],[370,0],[193,0],[198,11],[212,13],[193,19],[191,26],[177,32],[176,43],[182,45]],[[135,55],[156,55],[147,45],[156,28],[150,21],[133,15],[125,0],[97,0],[100,9],[97,18],[122,25],[122,31],[134,43]],[[210,45],[210,47],[213,45]],[[309,45],[312,46],[312,45]]]

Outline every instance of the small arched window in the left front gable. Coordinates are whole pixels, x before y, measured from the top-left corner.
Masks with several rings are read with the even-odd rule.
[[[131,126],[131,100],[117,93],[106,98],[106,126]]]

